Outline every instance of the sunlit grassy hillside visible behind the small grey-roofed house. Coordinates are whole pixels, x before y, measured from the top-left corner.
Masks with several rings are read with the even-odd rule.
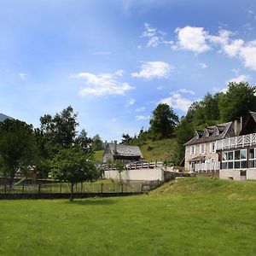
[[[160,141],[147,141],[139,146],[143,153],[144,160],[170,160],[176,147],[176,139],[164,139]],[[102,162],[103,150],[96,151],[95,159],[97,162]]]

